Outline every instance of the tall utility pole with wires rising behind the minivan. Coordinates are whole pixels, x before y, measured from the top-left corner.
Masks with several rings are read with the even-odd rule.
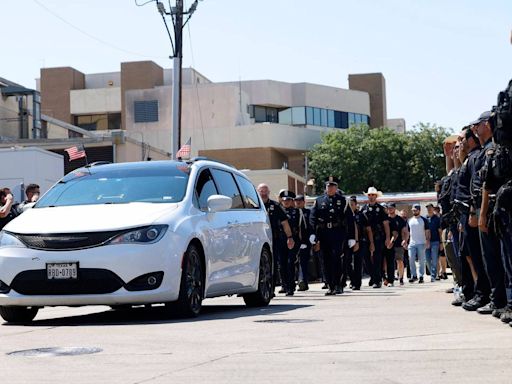
[[[158,12],[162,15],[162,19],[165,24],[165,28],[167,29],[167,34],[169,35],[169,39],[171,40],[172,47],[172,56],[169,58],[172,59],[173,62],[173,76],[172,76],[172,158],[176,159],[176,153],[179,151],[181,147],[181,66],[183,59],[183,27],[188,23],[192,14],[197,9],[198,0],[195,0],[188,11],[183,11],[183,0],[176,0],[176,6],[172,7],[169,1],[169,6],[171,7],[168,12],[165,9],[165,5],[157,1],[156,6]],[[183,22],[183,16],[188,15],[185,22]],[[174,42],[169,31],[169,27],[167,25],[166,16],[170,16],[172,20],[172,25],[174,28]]]

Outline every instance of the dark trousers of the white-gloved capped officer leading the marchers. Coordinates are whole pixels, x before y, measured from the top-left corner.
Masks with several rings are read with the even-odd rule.
[[[319,238],[326,283],[329,289],[335,289],[341,284],[341,254],[345,244],[345,233],[337,228],[325,229]]]

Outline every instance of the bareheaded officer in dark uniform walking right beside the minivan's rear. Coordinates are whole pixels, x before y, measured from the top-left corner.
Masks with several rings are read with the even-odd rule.
[[[272,256],[274,260],[274,286],[279,283],[279,265],[281,257],[287,256],[288,249],[293,248],[292,231],[288,224],[288,217],[283,208],[274,200],[270,199],[270,189],[267,184],[260,184],[256,188],[258,194],[263,200],[265,209],[267,210],[272,229]],[[282,236],[284,233],[285,236]],[[284,237],[284,239],[283,239]],[[284,256],[282,256],[284,255]],[[283,289],[281,293],[285,292]]]

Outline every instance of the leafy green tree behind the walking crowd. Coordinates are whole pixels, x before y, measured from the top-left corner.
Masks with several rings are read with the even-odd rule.
[[[449,131],[420,124],[406,134],[365,125],[325,134],[309,153],[317,190],[329,176],[340,178],[346,193],[369,186],[386,192],[431,191],[444,174],[443,140]]]

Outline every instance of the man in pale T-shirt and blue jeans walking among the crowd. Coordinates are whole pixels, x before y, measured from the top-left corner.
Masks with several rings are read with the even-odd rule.
[[[418,280],[416,271],[416,256],[420,263],[420,280],[418,283],[423,283],[423,274],[425,273],[425,250],[430,248],[430,230],[428,221],[420,215],[421,206],[414,204],[412,206],[413,216],[408,220],[409,226],[409,267],[411,269],[411,278],[409,283],[414,283]]]

